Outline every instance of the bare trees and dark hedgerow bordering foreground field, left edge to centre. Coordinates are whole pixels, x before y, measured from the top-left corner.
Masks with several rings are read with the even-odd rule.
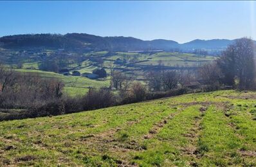
[[[84,96],[71,98],[62,94],[63,87],[57,79],[0,66],[0,121],[100,109],[143,99],[140,85],[132,87],[136,93],[125,94],[129,101],[109,88],[90,89]]]

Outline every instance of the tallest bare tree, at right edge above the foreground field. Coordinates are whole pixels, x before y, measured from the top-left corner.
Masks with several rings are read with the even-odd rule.
[[[237,77],[239,89],[255,89],[255,56],[255,44],[251,39],[238,39],[230,45],[217,60],[224,84],[234,85]]]

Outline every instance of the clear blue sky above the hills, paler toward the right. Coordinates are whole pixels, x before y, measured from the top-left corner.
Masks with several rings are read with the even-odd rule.
[[[0,36],[89,33],[143,40],[256,39],[253,1],[0,1]]]

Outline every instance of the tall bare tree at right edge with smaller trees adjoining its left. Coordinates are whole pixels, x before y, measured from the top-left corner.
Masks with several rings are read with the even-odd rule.
[[[212,64],[201,67],[201,79],[209,84],[230,85],[240,90],[256,89],[256,46],[242,38],[228,46]]]

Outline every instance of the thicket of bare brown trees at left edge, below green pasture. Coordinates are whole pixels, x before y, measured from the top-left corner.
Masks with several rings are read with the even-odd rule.
[[[38,107],[62,96],[59,80],[24,75],[0,67],[0,108],[24,109]]]

